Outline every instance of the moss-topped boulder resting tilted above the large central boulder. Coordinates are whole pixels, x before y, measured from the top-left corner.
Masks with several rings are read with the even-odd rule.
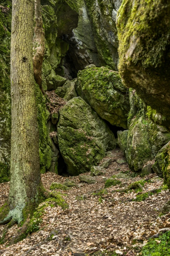
[[[118,72],[104,67],[79,71],[77,92],[102,119],[127,128],[129,97]]]

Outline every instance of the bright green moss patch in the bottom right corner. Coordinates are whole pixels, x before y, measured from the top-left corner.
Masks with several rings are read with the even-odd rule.
[[[161,241],[157,243],[156,240]],[[170,255],[170,231],[165,232],[156,239],[150,239],[149,242],[142,247],[142,256],[167,256]]]

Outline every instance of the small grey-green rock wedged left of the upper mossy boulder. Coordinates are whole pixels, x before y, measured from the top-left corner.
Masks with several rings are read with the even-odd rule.
[[[55,93],[66,101],[69,101],[74,97],[78,97],[74,80],[66,82],[62,87],[58,87],[55,90]]]

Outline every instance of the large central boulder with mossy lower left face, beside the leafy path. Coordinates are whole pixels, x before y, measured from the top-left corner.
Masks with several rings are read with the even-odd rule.
[[[116,140],[105,122],[80,97],[69,100],[60,110],[57,125],[61,154],[70,175],[90,171],[116,147]]]

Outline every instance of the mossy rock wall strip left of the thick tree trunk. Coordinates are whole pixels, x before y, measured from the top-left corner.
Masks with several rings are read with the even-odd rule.
[[[10,99],[10,29],[11,1],[1,2],[9,6],[5,13],[0,8],[0,183],[9,181],[10,135],[11,135],[11,99]]]

